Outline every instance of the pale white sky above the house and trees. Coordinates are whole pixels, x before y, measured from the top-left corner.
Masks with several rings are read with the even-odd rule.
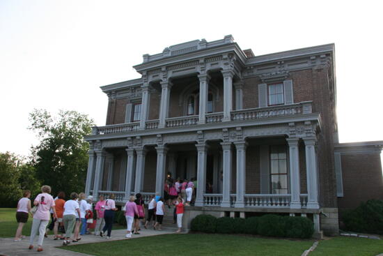
[[[379,1],[0,0],[0,152],[38,143],[29,113],[77,110],[104,126],[99,88],[139,78],[143,54],[232,34],[256,55],[335,43],[340,142],[383,140]]]

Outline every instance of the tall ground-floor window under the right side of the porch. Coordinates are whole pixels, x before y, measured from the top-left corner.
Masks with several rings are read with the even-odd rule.
[[[286,146],[270,146],[270,181],[272,194],[288,193]]]

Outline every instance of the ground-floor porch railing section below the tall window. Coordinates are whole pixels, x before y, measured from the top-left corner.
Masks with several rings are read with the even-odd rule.
[[[291,196],[286,195],[244,195],[245,207],[286,208],[290,207]]]

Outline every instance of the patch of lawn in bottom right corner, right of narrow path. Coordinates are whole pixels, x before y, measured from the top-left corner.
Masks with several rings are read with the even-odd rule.
[[[383,253],[383,241],[338,236],[322,240],[310,256],[375,256]]]

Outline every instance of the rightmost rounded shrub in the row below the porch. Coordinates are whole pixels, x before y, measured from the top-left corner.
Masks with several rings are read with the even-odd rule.
[[[314,223],[303,217],[283,217],[285,221],[286,236],[299,239],[311,238],[314,234]]]

